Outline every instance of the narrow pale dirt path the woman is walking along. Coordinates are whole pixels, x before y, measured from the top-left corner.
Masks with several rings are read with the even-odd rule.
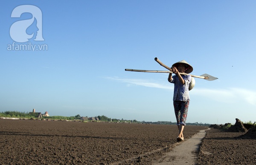
[[[157,160],[154,165],[195,165],[195,151],[198,150],[207,130],[201,130],[190,139],[181,142],[181,144],[177,143],[177,146],[171,152]]]

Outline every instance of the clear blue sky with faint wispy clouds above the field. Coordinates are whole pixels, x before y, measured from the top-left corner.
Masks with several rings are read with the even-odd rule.
[[[42,12],[26,29],[28,42],[12,39],[17,6]],[[195,78],[187,122],[256,121],[256,2],[253,0],[1,1],[0,111],[48,111],[51,116],[98,116],[172,121],[173,84],[166,70],[186,60]],[[39,20],[40,22],[40,20]],[[12,44],[47,50],[8,50]],[[38,49],[39,47],[37,47]]]

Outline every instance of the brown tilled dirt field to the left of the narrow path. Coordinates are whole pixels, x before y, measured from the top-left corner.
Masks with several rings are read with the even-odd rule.
[[[177,134],[176,125],[0,119],[0,164],[152,164]]]

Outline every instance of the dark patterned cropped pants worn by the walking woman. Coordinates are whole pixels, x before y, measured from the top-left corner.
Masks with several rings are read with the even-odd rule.
[[[173,101],[177,125],[186,125],[189,101]]]

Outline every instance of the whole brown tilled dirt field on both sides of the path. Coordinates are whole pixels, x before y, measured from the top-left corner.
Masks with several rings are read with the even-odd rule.
[[[184,136],[204,129],[187,125]],[[176,125],[0,119],[0,165],[154,164],[179,144],[177,133]],[[256,164],[256,139],[244,134],[207,131],[196,164]]]

